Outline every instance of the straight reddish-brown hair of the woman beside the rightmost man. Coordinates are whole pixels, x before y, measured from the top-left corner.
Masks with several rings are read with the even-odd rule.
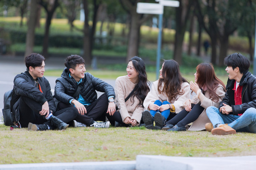
[[[218,99],[222,99],[219,97],[216,92],[215,88],[221,84],[224,89],[226,89],[225,84],[219,80],[214,72],[213,65],[211,63],[201,63],[197,66],[197,85],[199,88],[207,87],[209,91],[210,99],[213,101],[218,101]]]

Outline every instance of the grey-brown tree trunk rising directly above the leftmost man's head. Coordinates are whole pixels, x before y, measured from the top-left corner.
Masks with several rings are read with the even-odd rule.
[[[36,13],[37,13],[37,2],[31,1],[31,10],[28,22],[28,31],[26,35],[26,51],[24,57],[33,52],[34,47],[34,32],[36,23]]]

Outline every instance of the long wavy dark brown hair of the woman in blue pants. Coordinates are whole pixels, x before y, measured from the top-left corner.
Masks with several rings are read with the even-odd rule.
[[[181,84],[188,81],[181,76],[179,64],[174,60],[165,60],[162,69],[163,79],[158,81],[158,92],[165,93],[169,100],[175,100],[177,94],[183,95],[184,90],[181,90]],[[163,83],[163,89],[160,87]]]

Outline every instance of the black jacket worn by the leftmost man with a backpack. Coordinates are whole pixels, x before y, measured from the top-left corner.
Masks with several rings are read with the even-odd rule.
[[[55,103],[53,100],[51,86],[45,77],[37,78],[43,93],[35,87],[34,79],[29,74],[28,70],[24,73],[16,75],[14,78],[13,90],[17,96],[28,97],[42,105],[47,101],[49,110],[55,112]]]

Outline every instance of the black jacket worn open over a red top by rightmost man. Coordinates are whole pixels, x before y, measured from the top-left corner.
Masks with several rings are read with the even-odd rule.
[[[232,107],[233,115],[243,114],[247,108],[256,108],[256,77],[250,72],[246,72],[240,80],[239,86],[242,88],[242,104],[235,105],[234,103],[234,82],[235,80],[228,79],[226,94],[219,103],[219,108],[224,106],[223,103]]]

